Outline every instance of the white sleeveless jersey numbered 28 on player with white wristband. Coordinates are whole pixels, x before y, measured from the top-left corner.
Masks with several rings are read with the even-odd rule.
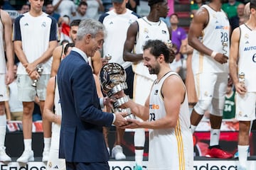
[[[209,14],[208,24],[203,29],[201,42],[206,47],[215,52],[225,53],[229,56],[230,52],[230,23],[224,11],[214,11],[208,5],[203,5]],[[213,57],[193,50],[192,60],[193,73],[201,72],[228,72],[228,62],[220,64]]]

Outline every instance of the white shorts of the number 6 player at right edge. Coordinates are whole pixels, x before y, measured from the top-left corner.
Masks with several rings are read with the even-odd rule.
[[[256,92],[247,92],[245,95],[235,94],[235,118],[240,121],[255,120]]]

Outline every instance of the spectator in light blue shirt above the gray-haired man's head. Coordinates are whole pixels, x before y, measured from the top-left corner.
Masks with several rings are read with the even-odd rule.
[[[85,1],[85,0],[84,0]],[[101,0],[86,0],[88,7],[86,16],[87,18],[98,20],[100,14],[104,12],[104,6]]]

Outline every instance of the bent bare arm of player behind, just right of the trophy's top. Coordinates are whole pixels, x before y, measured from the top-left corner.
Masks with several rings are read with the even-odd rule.
[[[134,54],[132,50],[134,48],[137,32],[138,32],[138,23],[135,21],[132,23],[127,30],[127,39],[124,42],[124,61],[128,62],[139,62],[143,60],[142,54]]]

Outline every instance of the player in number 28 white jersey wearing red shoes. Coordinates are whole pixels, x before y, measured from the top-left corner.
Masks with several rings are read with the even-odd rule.
[[[228,84],[230,24],[221,10],[221,0],[201,6],[188,31],[188,43],[193,50],[192,69],[198,103],[191,113],[191,131],[210,111],[210,147],[206,157],[230,158],[232,154],[219,147],[220,125]]]

